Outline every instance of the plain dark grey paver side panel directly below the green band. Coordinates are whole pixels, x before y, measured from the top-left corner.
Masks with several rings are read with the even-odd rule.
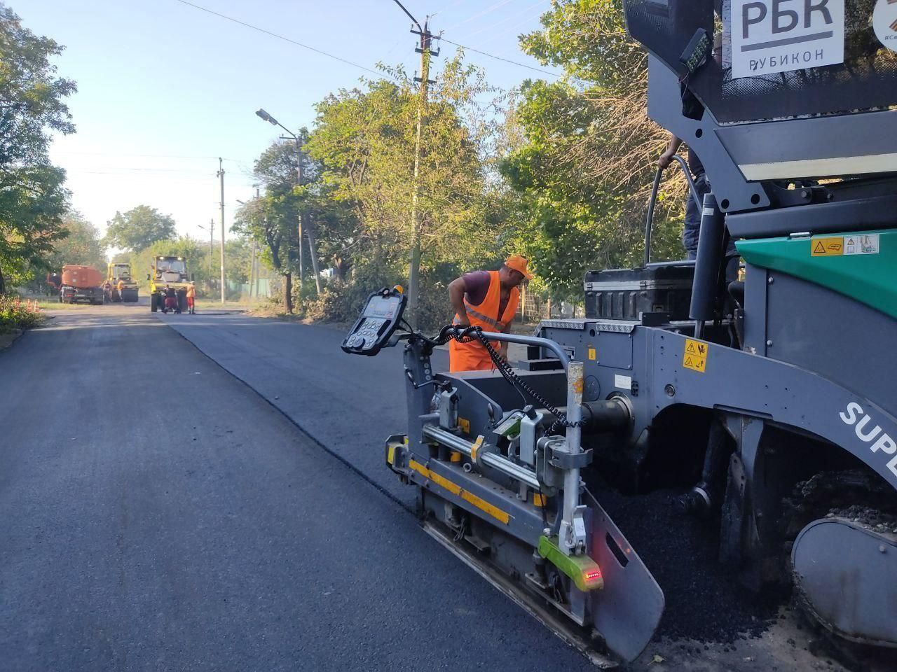
[[[812,282],[772,273],[767,355],[841,383],[897,415],[897,321]]]

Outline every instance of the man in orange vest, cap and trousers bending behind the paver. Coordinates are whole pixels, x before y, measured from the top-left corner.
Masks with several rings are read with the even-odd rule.
[[[518,286],[531,277],[526,258],[511,254],[498,271],[474,271],[452,280],[448,297],[457,311],[454,323],[479,326],[483,332],[509,332],[517,314]],[[493,342],[492,347],[507,358],[507,343]],[[489,371],[492,366],[492,358],[480,341],[448,343],[449,371]]]

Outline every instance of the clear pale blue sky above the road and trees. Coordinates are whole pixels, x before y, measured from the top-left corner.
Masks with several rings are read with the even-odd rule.
[[[392,0],[191,2],[371,69],[382,61],[414,72],[418,63],[410,21]],[[78,83],[69,99],[77,133],[54,142],[52,159],[68,171],[74,207],[100,230],[116,211],[145,203],[170,213],[179,232],[207,238],[199,225],[214,218],[220,226],[217,157],[225,159],[230,228],[236,201],[253,193],[253,159],[278,135],[255,110],[291,128],[310,126],[318,100],[373,76],[178,0],[9,4],[27,28],[65,46],[57,66]],[[447,39],[538,66],[519,51],[518,35],[538,26],[549,0],[405,6],[420,21],[435,14],[431,30]],[[471,52],[468,60],[504,89],[544,76]]]

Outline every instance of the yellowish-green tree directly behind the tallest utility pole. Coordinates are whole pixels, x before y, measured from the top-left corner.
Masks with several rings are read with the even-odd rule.
[[[412,78],[401,69],[388,73],[394,81],[366,82],[319,103],[309,137],[327,197],[354,215],[351,222],[341,218],[350,224],[340,235],[341,262],[384,281],[406,277],[420,102]],[[482,71],[465,65],[462,53],[448,61],[437,81],[424,109],[418,204],[422,276],[431,278],[492,258],[503,240],[503,222],[492,218],[489,156],[496,127],[480,104],[492,90]]]

